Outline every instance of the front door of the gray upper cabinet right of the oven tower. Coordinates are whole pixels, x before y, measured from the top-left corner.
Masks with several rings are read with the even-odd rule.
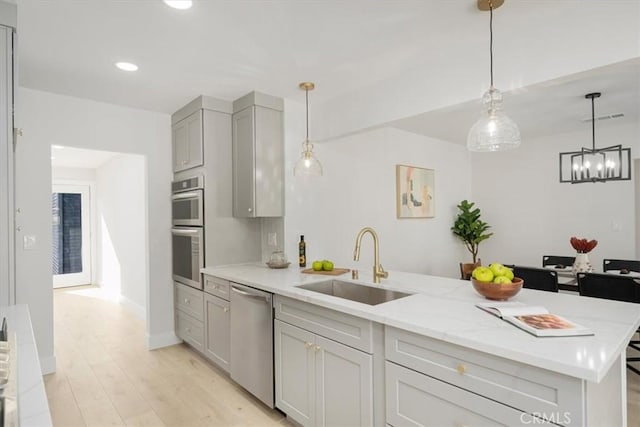
[[[256,216],[254,109],[233,115],[233,216],[238,218]]]

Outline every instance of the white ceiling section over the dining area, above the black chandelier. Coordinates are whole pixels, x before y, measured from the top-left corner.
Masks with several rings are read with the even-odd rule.
[[[572,74],[504,94],[504,110],[520,128],[523,142],[576,130],[591,130],[591,100],[595,99],[596,129],[640,119],[640,58]],[[469,127],[480,118],[480,99],[398,120],[390,125],[456,144],[466,144]],[[609,119],[607,116],[624,114]],[[599,119],[600,118],[600,119]],[[597,141],[597,135],[596,135]],[[590,144],[587,144],[589,146]],[[606,145],[606,144],[605,144]]]

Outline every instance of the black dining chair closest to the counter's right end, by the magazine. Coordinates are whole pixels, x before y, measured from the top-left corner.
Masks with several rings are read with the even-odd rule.
[[[600,273],[578,273],[580,295],[606,298],[640,304],[640,279]],[[636,331],[640,334],[640,328]],[[632,339],[629,348],[640,351],[640,339]],[[640,363],[640,357],[627,356],[627,368],[640,375],[640,369],[631,363]]]

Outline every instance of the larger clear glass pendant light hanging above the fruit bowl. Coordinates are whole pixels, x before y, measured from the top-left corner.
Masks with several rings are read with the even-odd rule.
[[[491,86],[482,96],[482,117],[467,136],[469,151],[506,151],[520,146],[520,130],[502,111],[502,93],[493,86],[493,9],[504,0],[478,0],[478,9],[489,11],[489,57]]]

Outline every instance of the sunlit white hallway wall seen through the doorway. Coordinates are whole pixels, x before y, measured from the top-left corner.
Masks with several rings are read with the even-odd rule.
[[[148,259],[144,156],[121,154],[96,170],[98,283],[144,318]]]

